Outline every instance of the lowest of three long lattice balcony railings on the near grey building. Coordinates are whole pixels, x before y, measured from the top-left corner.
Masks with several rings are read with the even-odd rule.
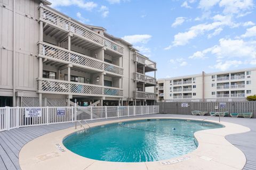
[[[123,98],[123,89],[78,82],[37,78],[38,91],[43,94],[99,96]]]

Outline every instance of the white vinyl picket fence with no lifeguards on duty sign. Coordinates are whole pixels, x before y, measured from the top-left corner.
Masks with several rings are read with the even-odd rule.
[[[154,113],[159,113],[159,106],[0,107],[0,131]]]

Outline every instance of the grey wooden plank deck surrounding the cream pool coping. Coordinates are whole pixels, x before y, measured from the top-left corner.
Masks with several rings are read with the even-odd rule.
[[[203,119],[205,116],[192,116],[192,115],[171,115],[171,114],[152,114],[137,117],[186,117]],[[123,117],[129,118],[129,117]],[[134,118],[134,117],[131,117]],[[122,118],[120,118],[122,120]],[[211,117],[210,120],[218,120],[218,117]],[[98,121],[88,121],[99,122]],[[237,123],[247,126],[251,129],[250,132],[228,135],[226,139],[241,149],[247,159],[245,170],[256,170],[256,119],[255,118],[232,118],[223,117],[222,121]],[[0,132],[0,169],[20,169],[19,166],[19,152],[21,148],[29,141],[44,135],[46,133],[58,131],[73,127],[74,123],[62,123],[42,126],[31,126],[27,128],[13,129],[10,131]]]

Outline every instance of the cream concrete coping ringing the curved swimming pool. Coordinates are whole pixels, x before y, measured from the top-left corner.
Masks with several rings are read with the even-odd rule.
[[[106,120],[90,123],[89,125],[93,127],[110,123],[158,118],[198,121],[193,118],[143,117]],[[217,121],[207,122],[218,123]],[[157,162],[116,163],[79,156],[69,151],[62,144],[63,138],[67,135],[83,129],[79,127],[75,130],[73,127],[51,132],[28,142],[20,151],[19,163],[21,169],[24,170],[35,169],[35,167],[36,169],[242,169],[246,163],[245,155],[241,150],[229,143],[225,136],[248,132],[250,129],[234,123],[221,122],[220,124],[225,125],[225,127],[194,133],[199,144],[196,150],[187,155]],[[58,146],[56,146],[57,144]]]

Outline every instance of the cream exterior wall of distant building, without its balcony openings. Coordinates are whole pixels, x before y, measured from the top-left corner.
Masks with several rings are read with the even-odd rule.
[[[251,72],[251,74],[246,75],[247,72]],[[221,77],[222,75],[228,75],[229,78],[227,80],[221,80],[217,78],[217,77]],[[195,78],[195,81],[191,83],[191,86],[196,85],[196,88],[192,88],[191,98],[175,99],[173,97],[174,94],[184,93],[184,92],[183,91],[174,92],[173,87],[178,87],[178,86],[184,87],[185,84],[174,86],[173,80],[178,80],[178,79],[193,80],[193,78]],[[172,81],[172,83],[170,83],[170,80]],[[247,81],[251,81],[251,84],[246,84]],[[164,101],[203,101],[203,100],[205,101],[244,101],[247,96],[256,94],[256,86],[255,86],[256,68],[205,74],[204,82],[203,82],[203,74],[188,75],[185,77],[177,77],[177,78],[159,79],[157,80],[157,82],[158,82],[158,86],[157,86],[158,101],[162,100],[162,98],[159,96],[159,94],[162,93],[162,91],[159,90],[160,83],[164,83],[164,97],[163,97]],[[231,84],[234,84],[235,82],[238,82],[238,84],[244,84],[244,86],[241,86],[239,88],[234,88],[234,87],[238,87],[235,85],[231,86]],[[204,91],[203,91],[203,84],[204,84]],[[222,84],[229,84],[229,86],[226,87]],[[172,90],[170,90],[170,88],[172,88]],[[251,90],[251,94],[247,94],[247,90]],[[225,97],[217,96],[218,94],[223,94],[227,92],[228,92],[228,96],[225,96]],[[193,93],[196,93],[196,95],[193,96]]]

